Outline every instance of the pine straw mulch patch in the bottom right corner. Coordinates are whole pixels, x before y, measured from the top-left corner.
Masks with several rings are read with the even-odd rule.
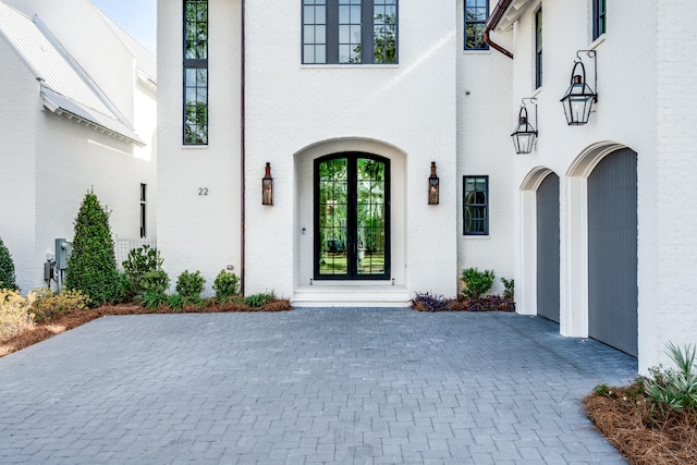
[[[588,418],[632,464],[697,464],[697,413],[663,413],[638,384],[592,392],[583,405]]]

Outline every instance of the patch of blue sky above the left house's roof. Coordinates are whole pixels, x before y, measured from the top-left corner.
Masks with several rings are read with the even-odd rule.
[[[157,0],[91,0],[152,53],[157,51]]]

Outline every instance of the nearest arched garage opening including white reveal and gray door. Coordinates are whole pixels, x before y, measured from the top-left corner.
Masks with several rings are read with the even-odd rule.
[[[590,338],[632,355],[638,345],[636,167],[635,151],[601,143],[567,173],[576,207],[568,210],[570,297],[583,297],[582,327]]]

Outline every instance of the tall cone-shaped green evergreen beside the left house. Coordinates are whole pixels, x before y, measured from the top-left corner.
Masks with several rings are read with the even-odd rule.
[[[75,219],[65,287],[87,294],[94,305],[121,299],[122,285],[117,271],[109,213],[93,192],[85,195]]]

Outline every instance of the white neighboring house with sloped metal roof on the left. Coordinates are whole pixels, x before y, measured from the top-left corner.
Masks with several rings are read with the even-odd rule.
[[[26,293],[89,189],[114,234],[155,235],[156,65],[88,0],[0,2],[0,236]]]

